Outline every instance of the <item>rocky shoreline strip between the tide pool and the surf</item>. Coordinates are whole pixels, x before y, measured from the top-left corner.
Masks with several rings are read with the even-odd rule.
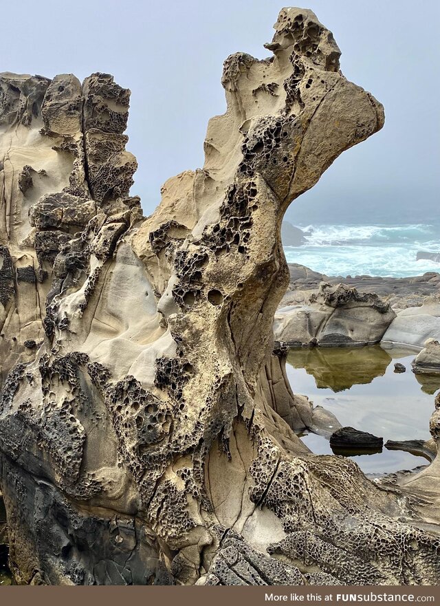
[[[410,278],[329,277],[289,264],[289,288],[274,320],[289,347],[381,343],[416,352],[440,338],[440,274]]]

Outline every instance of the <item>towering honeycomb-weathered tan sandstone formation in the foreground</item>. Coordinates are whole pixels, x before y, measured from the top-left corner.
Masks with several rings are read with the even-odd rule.
[[[0,490],[20,583],[439,581],[432,479],[384,490],[277,412],[283,214],[384,113],[314,13],[283,9],[266,47],[225,61],[205,165],[147,219],[128,90],[0,78]]]

